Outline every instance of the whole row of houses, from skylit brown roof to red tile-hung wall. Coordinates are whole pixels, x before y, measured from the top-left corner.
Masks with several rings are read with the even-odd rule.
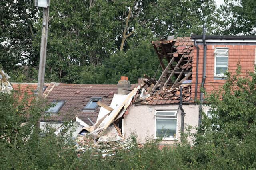
[[[204,31],[153,41],[152,46],[162,69],[157,80],[145,74],[132,85],[127,77],[117,85],[45,84],[44,97],[56,105],[47,111],[49,117],[42,117],[41,127],[50,122],[58,132],[64,121],[72,120],[78,126],[74,135],[87,134],[95,143],[127,139],[135,133],[139,143],[162,137],[162,144],[172,145],[188,126],[200,126],[203,111],[210,116],[200,88],[212,92],[225,83],[226,71],[235,74],[238,63],[241,76],[254,72],[256,64],[256,36],[205,35]],[[83,143],[84,137],[79,140]]]

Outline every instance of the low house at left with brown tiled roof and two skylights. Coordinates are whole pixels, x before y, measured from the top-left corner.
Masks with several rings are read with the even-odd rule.
[[[37,83],[12,83],[12,86],[14,92],[31,96],[29,100],[32,100],[37,93]],[[75,138],[82,128],[96,123],[100,105],[110,105],[117,92],[116,84],[45,83],[43,96],[53,106],[42,115],[40,127],[44,129],[48,124],[58,133],[62,130],[64,122],[72,121]]]

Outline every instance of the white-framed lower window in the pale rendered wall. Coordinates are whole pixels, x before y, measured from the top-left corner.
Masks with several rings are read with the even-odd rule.
[[[155,113],[155,137],[177,139],[177,111],[157,110]]]

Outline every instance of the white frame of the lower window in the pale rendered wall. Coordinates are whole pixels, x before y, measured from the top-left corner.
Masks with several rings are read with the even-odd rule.
[[[158,111],[161,112],[175,112],[174,115],[156,115]],[[163,138],[163,140],[178,140],[178,111],[177,110],[156,110],[154,113],[155,117],[155,127],[154,127],[154,138],[157,139],[156,136],[156,120],[157,119],[175,119],[176,120],[176,137],[173,138]]]

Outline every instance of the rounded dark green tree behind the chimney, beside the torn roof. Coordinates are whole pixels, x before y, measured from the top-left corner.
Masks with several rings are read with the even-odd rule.
[[[142,42],[138,47],[130,49],[124,53],[120,51],[110,56],[109,59],[102,61],[99,66],[85,66],[82,73],[81,84],[117,84],[120,76],[128,76],[131,83],[137,83],[139,77],[159,76],[157,71],[159,61],[155,56],[152,46],[148,42]]]

